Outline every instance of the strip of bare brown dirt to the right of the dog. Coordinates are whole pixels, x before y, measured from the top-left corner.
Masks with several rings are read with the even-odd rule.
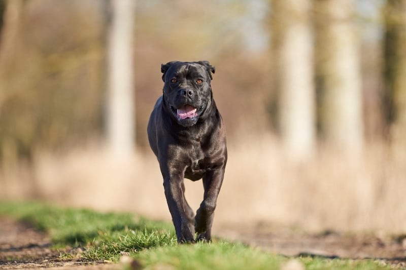
[[[406,269],[406,235],[307,234],[270,225],[219,229],[218,235],[285,256],[376,259]]]

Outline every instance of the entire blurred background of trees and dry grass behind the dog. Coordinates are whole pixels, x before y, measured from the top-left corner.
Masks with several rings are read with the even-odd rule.
[[[0,0],[0,198],[170,220],[146,125],[172,60],[216,67],[214,232],[406,232],[406,0]]]

